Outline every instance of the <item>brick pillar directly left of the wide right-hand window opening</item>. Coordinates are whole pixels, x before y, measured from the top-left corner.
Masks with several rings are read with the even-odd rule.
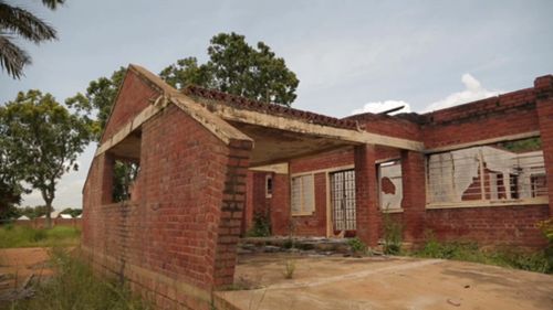
[[[408,150],[401,151],[401,182],[404,238],[406,242],[417,243],[422,240],[425,232],[425,154]]]

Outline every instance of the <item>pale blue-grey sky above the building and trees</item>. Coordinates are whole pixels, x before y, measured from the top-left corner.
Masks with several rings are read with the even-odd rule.
[[[33,64],[20,81],[0,73],[0,104],[31,88],[59,101],[119,66],[158,73],[176,60],[207,60],[220,32],[263,41],[300,79],[293,107],[335,117],[424,113],[532,87],[553,74],[553,1],[8,1],[48,20],[59,40],[18,41]],[[81,207],[95,146],[58,184],[56,210]],[[40,193],[22,205],[43,204]]]

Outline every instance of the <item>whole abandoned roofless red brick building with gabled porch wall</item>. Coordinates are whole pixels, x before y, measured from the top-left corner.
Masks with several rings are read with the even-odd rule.
[[[522,141],[521,141],[522,140]],[[118,161],[139,165],[115,202]],[[189,87],[131,65],[83,190],[83,252],[160,308],[209,309],[254,214],[275,235],[544,244],[553,76],[429,114],[337,119]]]

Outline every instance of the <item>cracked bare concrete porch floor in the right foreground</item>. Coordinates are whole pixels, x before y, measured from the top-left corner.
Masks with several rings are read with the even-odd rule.
[[[217,309],[553,309],[551,275],[439,259],[255,254],[234,282]]]

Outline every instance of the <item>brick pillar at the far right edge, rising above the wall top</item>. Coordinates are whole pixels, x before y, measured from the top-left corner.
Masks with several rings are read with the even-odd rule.
[[[534,93],[547,174],[550,216],[553,216],[553,75],[538,77],[534,81]]]

